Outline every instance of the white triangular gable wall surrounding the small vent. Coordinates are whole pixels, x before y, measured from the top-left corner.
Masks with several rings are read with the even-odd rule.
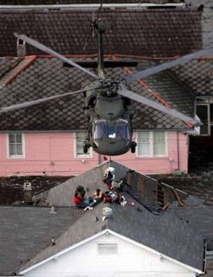
[[[118,253],[98,254],[98,244],[118,244]],[[26,277],[195,277],[194,272],[155,253],[104,234],[56,260],[28,271]]]

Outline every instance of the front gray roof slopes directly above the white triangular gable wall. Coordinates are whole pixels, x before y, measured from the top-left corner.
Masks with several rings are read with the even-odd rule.
[[[125,193],[123,195],[127,201],[133,201],[129,195]],[[102,208],[106,205],[113,209],[113,216],[103,222]],[[95,221],[96,217],[98,221]],[[55,241],[54,247],[47,247],[21,269],[53,256],[104,229],[115,231],[185,265],[203,269],[203,236],[185,222],[181,222],[174,213],[153,215],[138,203],[124,208],[117,204],[99,204],[93,208],[93,211],[82,215],[70,229],[63,233]]]

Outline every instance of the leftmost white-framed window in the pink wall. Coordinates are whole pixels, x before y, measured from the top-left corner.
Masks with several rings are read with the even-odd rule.
[[[8,158],[25,158],[24,134],[8,134]]]

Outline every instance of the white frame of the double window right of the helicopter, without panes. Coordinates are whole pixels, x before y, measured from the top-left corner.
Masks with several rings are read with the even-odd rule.
[[[139,148],[136,148],[136,157],[141,158],[141,157],[149,157],[149,158],[162,158],[162,157],[168,157],[168,135],[166,131],[159,131],[159,132],[164,132],[165,133],[165,154],[158,154],[154,155],[154,132],[158,131],[137,131],[136,132],[136,141],[137,144],[139,145],[138,142],[138,132],[149,132],[149,154],[140,154],[139,153]]]

